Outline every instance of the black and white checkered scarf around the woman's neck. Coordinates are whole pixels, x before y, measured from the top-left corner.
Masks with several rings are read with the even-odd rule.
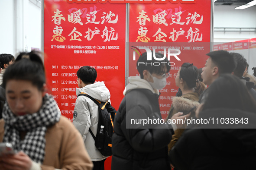
[[[42,107],[37,113],[15,116],[6,102],[2,114],[5,121],[3,142],[10,142],[16,152],[23,151],[33,161],[42,164],[46,127],[60,120],[58,106],[52,96],[45,94]],[[24,140],[20,139],[19,131],[27,132]]]

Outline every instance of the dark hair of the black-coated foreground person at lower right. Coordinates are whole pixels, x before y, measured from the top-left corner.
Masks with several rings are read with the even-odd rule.
[[[256,101],[237,76],[223,74],[207,90],[202,110],[212,108],[239,109],[256,113]]]

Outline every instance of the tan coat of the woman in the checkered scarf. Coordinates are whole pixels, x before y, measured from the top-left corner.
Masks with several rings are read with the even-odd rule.
[[[4,120],[0,120],[0,142],[3,142]],[[45,159],[42,170],[91,170],[93,164],[84,147],[83,139],[64,116],[45,133]]]

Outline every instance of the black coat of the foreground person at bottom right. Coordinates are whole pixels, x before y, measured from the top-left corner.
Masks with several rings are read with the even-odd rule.
[[[242,110],[209,109],[199,116],[200,119],[247,117],[250,125],[256,124],[256,114]],[[198,129],[186,129],[169,152],[172,164],[177,170],[255,170],[256,129],[243,129],[248,128],[245,123],[236,126],[215,121],[202,124]],[[234,127],[237,129],[232,129]]]

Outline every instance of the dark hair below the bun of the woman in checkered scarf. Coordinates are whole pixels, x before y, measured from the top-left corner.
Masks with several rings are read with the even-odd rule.
[[[45,72],[41,64],[29,59],[22,59],[6,68],[3,74],[3,88],[9,80],[26,80],[38,89],[45,83]]]

